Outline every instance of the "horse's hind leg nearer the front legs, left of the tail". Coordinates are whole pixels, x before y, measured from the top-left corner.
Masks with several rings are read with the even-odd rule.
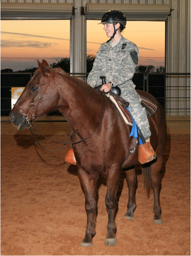
[[[137,188],[137,176],[135,172],[135,168],[126,170],[126,181],[129,189],[129,200],[127,205],[127,212],[125,214],[125,218],[129,220],[133,220],[133,213],[136,209],[136,200],[135,200],[135,194],[136,194],[136,188]]]

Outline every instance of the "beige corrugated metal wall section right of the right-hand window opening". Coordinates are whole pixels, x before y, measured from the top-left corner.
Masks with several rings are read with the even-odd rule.
[[[168,73],[190,73],[190,1],[173,0],[167,23]],[[172,87],[170,87],[172,86]],[[166,114],[190,115],[190,76],[168,76]]]

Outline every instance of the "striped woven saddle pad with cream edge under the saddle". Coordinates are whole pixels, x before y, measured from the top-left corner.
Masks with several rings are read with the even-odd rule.
[[[109,99],[111,99],[111,101],[115,104],[126,124],[133,125],[132,117],[129,111],[126,109],[126,107],[129,106],[129,103],[125,101],[122,97],[117,96],[116,94],[113,94],[111,92],[109,92]],[[147,117],[149,118],[155,113],[155,111],[157,111],[157,106],[145,97],[141,97],[141,99],[141,105],[145,107]]]

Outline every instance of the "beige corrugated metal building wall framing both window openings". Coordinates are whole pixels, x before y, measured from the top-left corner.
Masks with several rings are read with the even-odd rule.
[[[173,9],[166,22],[166,72],[190,73],[190,0],[1,0],[1,2],[73,3],[71,19],[71,72],[86,72],[86,17],[81,7],[97,4],[170,4]],[[190,115],[190,76],[168,76],[166,80],[167,115]],[[172,86],[172,87],[169,87]],[[177,100],[175,97],[182,97]],[[170,110],[174,109],[174,110]]]

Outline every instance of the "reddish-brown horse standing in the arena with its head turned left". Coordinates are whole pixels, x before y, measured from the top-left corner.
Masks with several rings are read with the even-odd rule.
[[[26,120],[35,120],[53,110],[59,110],[74,130],[73,142],[80,141],[96,133],[85,141],[73,144],[76,167],[80,184],[86,199],[87,227],[82,246],[91,246],[95,235],[95,216],[97,210],[96,193],[99,175],[107,179],[105,204],[108,211],[107,237],[105,245],[116,245],[115,210],[117,191],[123,162],[128,158],[130,148],[129,126],[120,120],[108,97],[94,90],[91,86],[72,77],[59,68],[50,69],[46,61],[38,62],[39,69],[28,82],[10,113],[10,119],[19,130],[27,125]],[[151,145],[157,159],[143,166],[147,192],[150,185],[154,192],[154,223],[162,224],[159,201],[160,169],[162,153],[166,143],[166,119],[159,102],[150,94],[139,91],[157,105],[158,109],[149,118]],[[105,103],[106,108],[105,108]],[[103,116],[105,109],[105,114]],[[117,115],[117,117],[116,117]],[[101,122],[101,119],[103,120]],[[99,126],[101,122],[101,125]],[[123,127],[124,126],[124,127]],[[125,217],[132,220],[136,209],[136,172],[138,164],[137,150],[124,166],[129,190],[129,200]]]

